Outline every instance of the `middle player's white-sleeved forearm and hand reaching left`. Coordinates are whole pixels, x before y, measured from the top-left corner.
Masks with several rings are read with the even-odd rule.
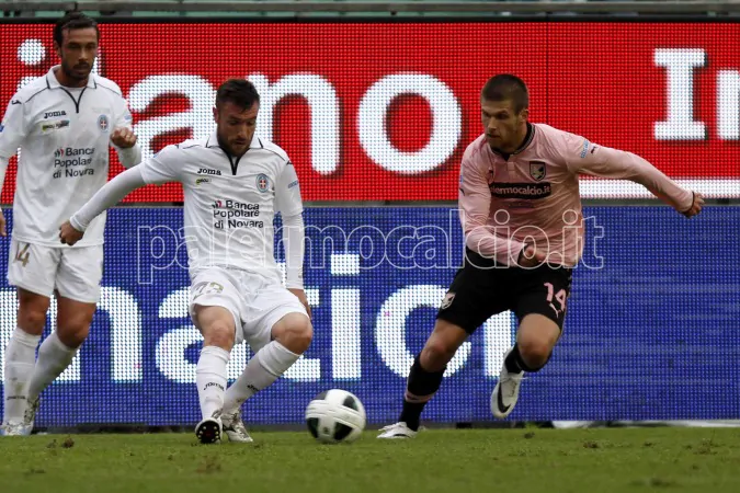
[[[59,240],[73,245],[82,239],[90,222],[104,210],[119,203],[126,195],[146,185],[140,169],[126,170],[93,195],[75,215],[59,228]]]

